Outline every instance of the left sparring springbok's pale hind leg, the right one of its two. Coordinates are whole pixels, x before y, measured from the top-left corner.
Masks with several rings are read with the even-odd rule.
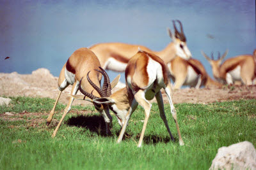
[[[72,86],[72,90],[71,90],[71,94],[72,95],[76,95],[76,93],[77,93],[77,90],[78,90],[78,85],[77,84],[78,83],[75,81],[74,85]],[[52,138],[54,138],[56,136],[57,131],[60,128],[60,125],[61,125],[62,121],[64,120],[64,118],[67,115],[68,111],[70,111],[70,109],[71,109],[71,105],[72,105],[73,101],[74,101],[74,97],[70,96],[68,104],[67,104],[67,107],[65,108],[64,113],[63,113],[63,115],[61,117],[61,120],[60,120],[59,124],[57,125],[56,129],[54,130],[54,132],[52,134]]]

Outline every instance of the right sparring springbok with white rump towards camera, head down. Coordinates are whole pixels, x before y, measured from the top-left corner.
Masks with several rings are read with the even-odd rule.
[[[184,145],[184,142],[180,136],[177,113],[172,103],[170,71],[168,70],[166,64],[164,64],[164,61],[153,53],[148,53],[139,49],[139,52],[136,53],[136,55],[134,55],[127,64],[125,69],[125,80],[126,87],[123,89],[116,91],[109,97],[99,97],[97,99],[93,99],[93,102],[95,103],[108,104],[109,108],[115,113],[116,117],[118,117],[118,122],[120,122],[122,130],[118,137],[117,143],[122,141],[129,119],[134,110],[136,110],[138,104],[140,104],[145,110],[145,121],[138,143],[138,147],[141,146],[152,106],[149,100],[153,99],[155,96],[157,99],[160,116],[163,119],[164,125],[166,126],[171,139],[173,140],[172,133],[164,114],[163,97],[160,91],[163,88],[167,94],[172,117],[174,118],[177,127],[179,143],[180,145]],[[83,99],[83,96],[73,97]]]

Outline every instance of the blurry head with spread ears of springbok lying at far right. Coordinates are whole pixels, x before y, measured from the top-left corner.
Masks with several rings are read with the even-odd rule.
[[[214,60],[213,52],[211,52],[211,59],[208,57],[203,51],[201,51],[202,55],[204,55],[205,59],[208,60],[212,67],[212,74],[214,78],[218,79],[220,78],[220,66],[222,63],[222,60],[226,57],[228,50],[226,50],[225,53],[223,53],[222,56],[220,56],[220,52],[218,52],[218,59]]]

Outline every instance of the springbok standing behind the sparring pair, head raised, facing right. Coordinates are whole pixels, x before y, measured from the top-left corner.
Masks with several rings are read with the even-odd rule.
[[[125,71],[129,59],[138,52],[138,47],[146,52],[156,54],[164,60],[165,63],[170,62],[170,60],[174,59],[177,55],[188,60],[191,57],[191,52],[186,45],[186,37],[184,35],[182,24],[179,20],[176,20],[176,22],[180,25],[180,32],[177,31],[175,21],[173,20],[174,34],[168,29],[168,34],[173,41],[159,52],[154,52],[145,46],[130,45],[126,43],[99,43],[90,47],[90,50],[97,55],[103,69],[118,72]]]

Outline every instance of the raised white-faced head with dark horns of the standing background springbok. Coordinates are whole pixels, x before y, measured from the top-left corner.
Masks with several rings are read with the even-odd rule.
[[[174,27],[174,34],[172,31],[168,28],[168,34],[170,38],[172,38],[173,43],[175,44],[175,50],[176,55],[179,57],[182,57],[183,59],[190,59],[191,58],[191,52],[188,49],[187,43],[186,43],[186,36],[183,31],[183,26],[180,22],[180,20],[173,20],[173,27]],[[175,22],[178,22],[180,25],[180,32],[177,30],[177,27],[175,25]]]

